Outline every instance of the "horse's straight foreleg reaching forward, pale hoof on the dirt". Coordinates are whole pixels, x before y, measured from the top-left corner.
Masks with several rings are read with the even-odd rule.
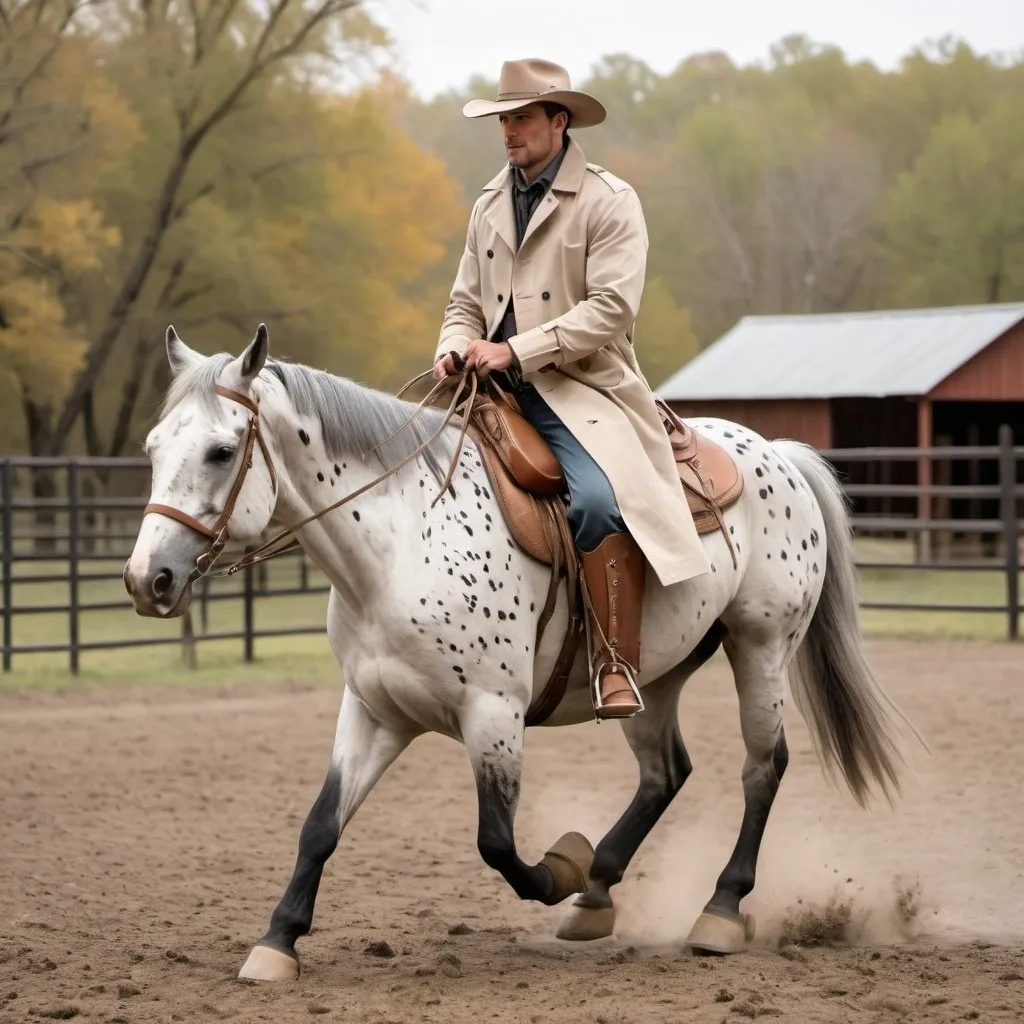
[[[239,972],[240,978],[294,981],[299,976],[295,942],[308,934],[312,925],[324,865],[338,846],[345,825],[412,739],[412,733],[395,731],[374,720],[346,688],[331,765],[299,834],[291,881],[270,915],[269,929]]]

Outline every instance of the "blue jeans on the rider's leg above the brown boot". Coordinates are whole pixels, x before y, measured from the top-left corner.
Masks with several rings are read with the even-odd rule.
[[[577,547],[593,551],[611,534],[625,534],[615,494],[604,471],[555,415],[532,384],[513,389],[522,415],[548,442],[569,492],[568,521]]]

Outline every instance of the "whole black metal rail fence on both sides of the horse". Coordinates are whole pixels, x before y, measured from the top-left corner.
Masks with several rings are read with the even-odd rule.
[[[998,602],[866,600],[861,607],[996,613],[1006,617],[1006,636],[1019,638],[1024,505],[1019,464],[1024,447],[1014,446],[1009,427],[1000,431],[999,443],[991,446],[844,449],[822,454],[846,481],[857,536],[914,540],[912,560],[861,562],[862,570],[986,571],[1004,581]],[[963,473],[950,468],[958,464],[973,467],[967,482]],[[892,471],[894,466],[915,468],[907,477]],[[904,482],[891,482],[893,476]],[[888,482],[878,482],[880,478]],[[990,482],[972,482],[978,478]],[[180,625],[174,625],[177,632],[157,632],[151,626],[145,633],[151,621],[131,612],[121,571],[148,485],[148,464],[140,459],[0,459],[5,672],[22,655],[56,652],[67,654],[68,668],[75,674],[85,651],[154,644],[179,644],[185,664],[195,665],[196,645],[208,640],[240,641],[240,654],[248,662],[254,657],[257,638],[323,632],[321,602],[308,622],[282,622],[288,616],[280,614],[285,605],[278,604],[274,622],[257,624],[261,603],[328,593],[327,582],[299,552],[237,577],[204,581],[193,608]],[[211,609],[220,602],[241,609],[237,627],[212,625]],[[90,634],[83,628],[86,620],[94,622],[103,612],[111,614],[110,621],[102,621],[102,629]],[[15,623],[33,621],[37,626],[26,629],[28,639],[15,642],[15,632],[20,632]],[[111,622],[133,635],[108,635]]]

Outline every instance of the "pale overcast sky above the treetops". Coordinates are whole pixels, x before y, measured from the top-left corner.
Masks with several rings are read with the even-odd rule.
[[[885,68],[949,34],[984,52],[1024,51],[1024,0],[369,0],[368,8],[424,97],[476,73],[497,78],[513,57],[556,60],[579,81],[601,56],[627,52],[665,74],[710,49],[762,60],[791,33]]]

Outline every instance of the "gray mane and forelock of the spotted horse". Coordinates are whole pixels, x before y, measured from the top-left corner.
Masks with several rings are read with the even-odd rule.
[[[214,384],[231,359],[231,355],[219,352],[179,373],[168,388],[161,415],[166,416],[184,398],[201,402],[211,416],[218,415]],[[427,407],[385,444],[385,439],[416,411],[414,402],[297,362],[267,359],[264,372],[281,382],[300,416],[313,417],[319,422],[331,459],[361,458],[376,449],[373,458],[382,469],[389,469],[436,433],[443,419],[443,413]],[[427,465],[438,482],[447,472],[455,446],[454,430],[445,430],[424,451]]]

